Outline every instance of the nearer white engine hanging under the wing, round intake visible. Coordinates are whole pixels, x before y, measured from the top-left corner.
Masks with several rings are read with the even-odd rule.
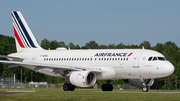
[[[79,87],[90,87],[96,83],[96,74],[91,71],[73,71],[69,76],[69,81]]]

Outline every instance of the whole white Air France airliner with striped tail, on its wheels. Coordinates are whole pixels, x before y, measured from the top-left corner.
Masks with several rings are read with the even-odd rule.
[[[13,11],[12,22],[17,53],[0,55],[9,68],[23,66],[39,73],[64,78],[64,91],[75,86],[91,87],[97,80],[107,80],[102,91],[112,91],[112,80],[124,79],[147,92],[155,78],[174,72],[174,66],[161,54],[147,49],[87,49],[57,48],[44,50],[19,11]]]

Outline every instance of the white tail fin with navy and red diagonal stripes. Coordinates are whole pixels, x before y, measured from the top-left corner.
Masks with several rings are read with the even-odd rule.
[[[31,49],[43,50],[37,43],[21,12],[13,11],[11,14],[17,52]]]

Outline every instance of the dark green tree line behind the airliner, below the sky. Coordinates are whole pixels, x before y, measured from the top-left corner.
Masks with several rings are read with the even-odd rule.
[[[140,49],[142,46],[145,49],[155,50],[162,53],[175,67],[175,71],[172,75],[155,79],[154,85],[152,88],[156,89],[174,89],[179,88],[180,86],[180,48],[171,41],[162,43],[157,43],[155,46],[151,46],[150,42],[143,41],[140,45],[124,45],[123,43],[109,44],[109,45],[99,45],[96,41],[89,41],[84,46],[79,46],[78,44],[65,44],[63,41],[48,40],[43,39],[40,43],[41,47],[44,49],[56,49],[58,47],[66,47],[71,49]],[[10,53],[16,52],[15,39],[10,36],[5,36],[0,34],[0,55],[8,55]],[[4,58],[0,58],[1,60]],[[30,69],[24,67],[8,68],[7,64],[0,64],[0,76],[1,77],[11,77],[14,73],[16,74],[16,79],[21,80],[21,68],[23,71],[22,78],[23,82],[31,82],[31,79],[34,82],[48,82],[48,83],[65,83],[63,78],[51,77],[41,73],[36,73]],[[106,81],[100,80],[97,81],[98,84],[103,84]],[[112,84],[124,84],[123,80],[114,80]],[[177,85],[177,86],[176,86]]]

